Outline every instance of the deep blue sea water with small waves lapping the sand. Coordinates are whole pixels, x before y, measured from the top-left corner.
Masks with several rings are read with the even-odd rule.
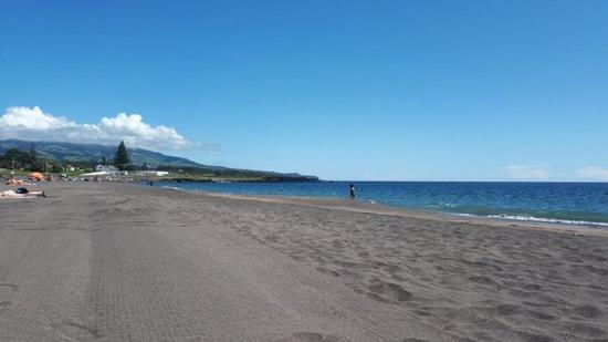
[[[348,197],[350,182],[157,183],[238,195]],[[608,228],[608,183],[353,182],[357,200],[431,211]]]

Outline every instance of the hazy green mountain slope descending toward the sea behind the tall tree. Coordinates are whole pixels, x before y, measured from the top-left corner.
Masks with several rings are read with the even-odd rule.
[[[0,154],[3,154],[7,149],[18,148],[20,151],[30,151],[32,146],[35,146],[35,152],[39,158],[49,160],[55,160],[64,164],[73,163],[86,163],[97,164],[102,158],[106,158],[108,163],[114,159],[117,146],[99,145],[99,144],[73,144],[63,142],[28,142],[20,139],[4,139],[0,141]],[[259,172],[248,169],[235,169],[223,166],[203,165],[192,162],[187,158],[165,155],[158,152],[143,149],[143,148],[128,148],[127,152],[134,165],[147,164],[149,167],[170,167],[170,168],[187,168],[199,169],[212,173],[222,174],[251,174],[264,177],[269,180],[317,180],[314,176],[302,176],[300,174],[281,174],[274,172]]]

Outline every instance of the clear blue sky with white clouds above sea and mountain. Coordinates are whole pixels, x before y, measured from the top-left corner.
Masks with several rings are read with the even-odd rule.
[[[0,137],[126,134],[326,179],[608,180],[606,13],[608,1],[4,1]]]

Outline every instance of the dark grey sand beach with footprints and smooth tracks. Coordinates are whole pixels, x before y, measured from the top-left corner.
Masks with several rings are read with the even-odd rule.
[[[0,201],[0,341],[608,341],[605,230],[38,187]]]

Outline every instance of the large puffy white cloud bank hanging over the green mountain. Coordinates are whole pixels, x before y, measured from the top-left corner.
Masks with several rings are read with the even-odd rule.
[[[44,113],[38,106],[7,108],[0,116],[0,138],[96,144],[125,141],[128,146],[153,149],[219,148],[212,144],[189,142],[171,127],[150,126],[139,114],[119,113],[114,117],[102,117],[97,124],[77,124],[65,117]]]

